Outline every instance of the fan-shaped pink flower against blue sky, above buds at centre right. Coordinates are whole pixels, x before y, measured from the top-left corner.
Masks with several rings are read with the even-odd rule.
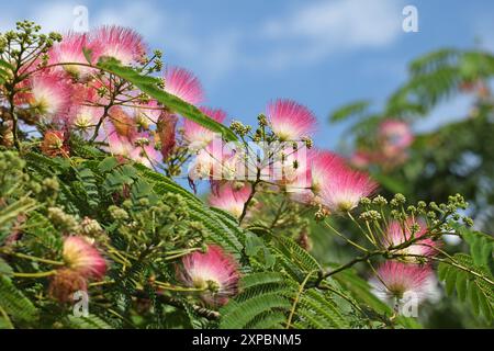
[[[316,117],[305,106],[292,100],[277,100],[268,104],[267,116],[272,132],[283,141],[308,136]]]

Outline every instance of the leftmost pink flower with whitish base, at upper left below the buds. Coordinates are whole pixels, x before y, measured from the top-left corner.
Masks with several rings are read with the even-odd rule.
[[[57,122],[70,107],[71,88],[66,78],[56,73],[34,76],[30,79],[26,102],[45,117],[46,123]]]

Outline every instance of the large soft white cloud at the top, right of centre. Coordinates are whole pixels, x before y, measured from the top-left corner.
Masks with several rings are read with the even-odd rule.
[[[401,1],[311,2],[265,23],[273,66],[321,60],[330,54],[392,44],[401,33]]]

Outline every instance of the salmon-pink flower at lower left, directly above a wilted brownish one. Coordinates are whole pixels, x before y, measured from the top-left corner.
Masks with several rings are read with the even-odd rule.
[[[66,237],[61,256],[70,270],[85,278],[101,279],[106,272],[106,261],[89,240],[86,237]]]

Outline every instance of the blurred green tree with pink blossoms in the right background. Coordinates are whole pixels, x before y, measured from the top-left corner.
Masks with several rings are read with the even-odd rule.
[[[409,65],[408,80],[381,111],[370,101],[349,103],[330,114],[330,123],[349,125],[341,151],[357,168],[370,171],[381,194],[401,192],[412,201],[445,201],[461,193],[470,203],[475,229],[494,233],[494,56],[481,50],[441,49]],[[415,134],[413,125],[439,104],[473,95],[465,115],[433,132]],[[456,116],[457,117],[457,116]],[[424,122],[422,122],[424,123]],[[348,138],[348,135],[351,135]],[[344,223],[340,228],[351,231]],[[317,235],[316,235],[317,237]],[[315,238],[317,240],[317,238]],[[319,244],[317,241],[317,244]],[[462,242],[453,250],[464,251]],[[318,248],[323,254],[325,248]],[[341,256],[341,251],[338,256]],[[491,258],[491,270],[492,270]],[[459,301],[434,304],[426,327],[482,327]]]

